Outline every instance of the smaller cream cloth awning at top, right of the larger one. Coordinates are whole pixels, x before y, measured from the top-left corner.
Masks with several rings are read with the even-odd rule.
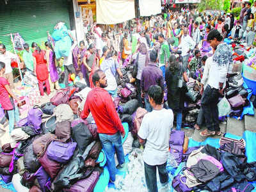
[[[157,15],[161,13],[161,0],[140,0],[140,16]]]

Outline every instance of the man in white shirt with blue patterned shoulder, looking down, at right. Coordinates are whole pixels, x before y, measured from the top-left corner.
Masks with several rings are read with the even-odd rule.
[[[209,70],[208,84],[204,90],[201,107],[204,113],[206,127],[200,132],[201,136],[221,135],[218,115],[219,95],[223,95],[228,70],[232,65],[232,51],[222,41],[222,36],[217,29],[209,32],[207,42],[216,49],[212,56],[212,64]]]

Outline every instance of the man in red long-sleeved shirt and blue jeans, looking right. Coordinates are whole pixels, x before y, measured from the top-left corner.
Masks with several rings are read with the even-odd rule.
[[[87,95],[84,109],[81,112],[81,118],[87,118],[90,112],[97,125],[97,132],[102,143],[102,147],[106,152],[108,169],[111,182],[115,182],[116,164],[115,151],[118,163],[121,167],[124,166],[124,149],[122,147],[122,138],[125,135],[122,122],[116,113],[113,100],[109,93],[104,90],[108,86],[106,75],[102,70],[96,70],[92,76],[92,81],[95,86]]]

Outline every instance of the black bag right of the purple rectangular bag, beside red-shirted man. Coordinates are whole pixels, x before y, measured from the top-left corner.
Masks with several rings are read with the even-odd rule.
[[[86,147],[92,142],[92,133],[84,123],[77,124],[72,128],[72,138],[77,143],[79,154],[83,154]]]

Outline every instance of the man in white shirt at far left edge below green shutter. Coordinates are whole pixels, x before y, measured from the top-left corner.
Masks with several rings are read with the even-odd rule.
[[[10,51],[6,51],[6,47],[4,44],[0,44],[0,61],[5,63],[5,73],[7,81],[10,83],[10,88],[14,88],[13,84],[13,74],[12,74],[12,60],[16,60],[16,55]]]

